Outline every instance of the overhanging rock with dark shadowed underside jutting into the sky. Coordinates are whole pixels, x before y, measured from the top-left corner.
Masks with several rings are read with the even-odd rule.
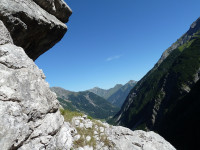
[[[62,21],[67,22],[71,14],[70,8],[62,0],[52,0],[55,13],[51,14],[48,11],[53,11],[53,7],[49,0],[35,2],[0,0],[0,20],[9,30],[14,44],[22,47],[33,60],[60,41],[67,31]]]

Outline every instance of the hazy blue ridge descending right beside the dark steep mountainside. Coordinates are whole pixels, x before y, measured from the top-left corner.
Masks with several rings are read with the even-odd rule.
[[[115,93],[113,93],[107,101],[109,101],[111,104],[121,107],[128,96],[131,89],[136,85],[136,81],[130,80],[128,83],[123,85],[121,88],[119,88]]]

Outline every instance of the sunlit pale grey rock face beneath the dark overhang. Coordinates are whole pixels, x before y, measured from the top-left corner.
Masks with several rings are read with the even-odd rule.
[[[22,48],[13,44],[0,46],[2,150],[67,149],[72,144],[69,141],[73,129],[64,124],[56,95],[44,79]]]

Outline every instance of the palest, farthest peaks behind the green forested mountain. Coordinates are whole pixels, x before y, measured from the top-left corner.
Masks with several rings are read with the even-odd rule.
[[[95,87],[93,89],[90,89],[88,91],[93,92],[101,97],[103,97],[104,99],[108,99],[112,94],[114,94],[115,92],[117,92],[123,85],[122,84],[116,84],[113,88],[110,89],[101,89],[99,87]]]

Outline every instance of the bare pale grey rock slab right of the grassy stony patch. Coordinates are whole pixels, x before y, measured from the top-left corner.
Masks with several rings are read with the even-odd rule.
[[[152,131],[131,131],[121,126],[112,126],[106,130],[108,139],[118,150],[175,150],[169,142]]]

